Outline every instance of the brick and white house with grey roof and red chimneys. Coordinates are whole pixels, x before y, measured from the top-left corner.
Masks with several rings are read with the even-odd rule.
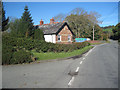
[[[37,27],[43,30],[46,42],[63,44],[73,42],[74,33],[67,22],[54,22],[54,19],[52,18],[50,19],[49,24],[44,24],[44,21],[41,19],[40,24],[37,25]]]

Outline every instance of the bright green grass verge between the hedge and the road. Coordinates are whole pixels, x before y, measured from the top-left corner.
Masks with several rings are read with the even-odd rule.
[[[82,53],[86,52],[87,50],[91,49],[93,46],[87,46],[79,50],[74,50],[73,52],[61,52],[61,53],[38,53],[35,50],[32,50],[32,53],[38,60],[49,60],[49,59],[62,59],[66,57],[81,55]]]

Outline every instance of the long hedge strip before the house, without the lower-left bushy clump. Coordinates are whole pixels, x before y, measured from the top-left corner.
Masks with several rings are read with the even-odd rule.
[[[13,38],[9,36],[3,37],[3,44],[13,46],[18,50],[22,48],[29,51],[32,49],[36,49],[37,52],[68,52],[90,45],[89,42],[73,44],[54,44],[40,40]]]

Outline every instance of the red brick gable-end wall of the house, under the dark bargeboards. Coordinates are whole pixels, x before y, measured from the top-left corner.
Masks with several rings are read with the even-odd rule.
[[[72,35],[71,31],[68,29],[67,25],[64,28],[58,34],[58,35],[61,35],[61,41],[58,42],[58,40],[57,40],[58,38],[56,36],[56,42],[63,43],[63,44],[71,44],[73,35]],[[68,35],[70,35],[71,41],[68,41]]]

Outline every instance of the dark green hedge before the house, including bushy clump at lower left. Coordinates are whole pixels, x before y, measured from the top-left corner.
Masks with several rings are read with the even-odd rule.
[[[15,38],[4,35],[2,38],[2,64],[29,63],[32,61],[30,51],[37,52],[71,52],[90,45],[89,42],[73,44],[54,44],[30,38]]]

